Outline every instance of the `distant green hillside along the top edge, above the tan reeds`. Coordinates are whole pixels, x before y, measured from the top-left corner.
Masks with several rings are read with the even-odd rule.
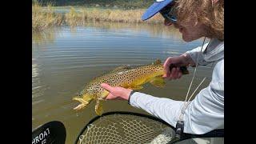
[[[36,0],[32,0],[34,2]],[[125,9],[138,9],[150,6],[154,0],[37,0],[42,5],[54,6],[98,6]]]

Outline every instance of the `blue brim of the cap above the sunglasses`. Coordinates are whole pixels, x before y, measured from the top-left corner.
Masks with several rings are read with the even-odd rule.
[[[174,0],[156,0],[156,2],[151,5],[146,12],[142,15],[142,20],[145,21],[157,14],[162,8],[173,2]]]

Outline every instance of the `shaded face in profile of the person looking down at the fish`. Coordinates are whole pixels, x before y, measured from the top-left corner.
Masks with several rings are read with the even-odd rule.
[[[182,33],[182,39],[185,42],[191,42],[198,38],[206,37],[206,26],[204,26],[201,22],[198,22],[197,25],[194,26],[194,22],[192,20],[186,23],[171,23],[170,21],[165,19],[164,24],[165,26],[170,26],[174,24],[174,27],[177,28],[180,33]]]

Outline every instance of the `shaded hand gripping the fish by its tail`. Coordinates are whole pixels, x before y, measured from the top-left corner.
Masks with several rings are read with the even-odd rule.
[[[182,70],[180,70],[181,66],[189,66],[191,59],[188,58],[188,56],[182,54],[177,57],[169,57],[166,59],[166,62],[164,62],[163,67],[166,71],[166,74],[164,74],[162,77],[167,79],[177,79],[182,77]],[[170,66],[174,66],[170,70]]]

